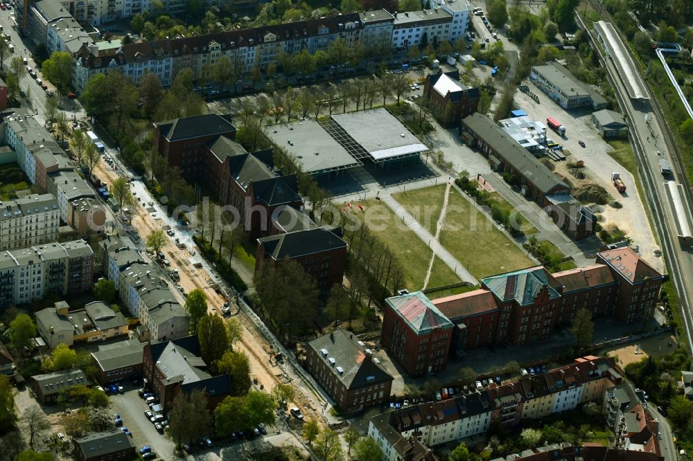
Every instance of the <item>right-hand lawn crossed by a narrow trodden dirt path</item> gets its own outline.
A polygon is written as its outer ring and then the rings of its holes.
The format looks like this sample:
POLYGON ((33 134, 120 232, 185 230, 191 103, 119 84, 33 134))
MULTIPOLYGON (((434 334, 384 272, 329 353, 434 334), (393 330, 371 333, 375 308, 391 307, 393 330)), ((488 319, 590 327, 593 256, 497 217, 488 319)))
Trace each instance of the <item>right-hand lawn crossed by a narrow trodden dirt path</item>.
MULTIPOLYGON (((443 204, 445 187, 441 185, 402 192, 394 195, 394 198, 433 233, 432 229, 435 228, 443 204)), ((475 278, 514 271, 533 264, 525 251, 495 228, 482 213, 472 209, 471 204, 455 189, 450 190, 441 243, 475 278)))

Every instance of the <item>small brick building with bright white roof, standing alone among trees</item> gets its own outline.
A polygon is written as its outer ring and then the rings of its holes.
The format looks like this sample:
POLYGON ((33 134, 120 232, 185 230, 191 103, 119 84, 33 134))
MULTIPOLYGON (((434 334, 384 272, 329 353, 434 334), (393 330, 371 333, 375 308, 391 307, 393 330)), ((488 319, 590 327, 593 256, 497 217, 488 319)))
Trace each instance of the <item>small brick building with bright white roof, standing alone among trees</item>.
POLYGON ((430 101, 435 118, 448 127, 474 114, 479 106, 479 89, 459 82, 459 72, 431 73, 423 82, 423 97, 430 101))

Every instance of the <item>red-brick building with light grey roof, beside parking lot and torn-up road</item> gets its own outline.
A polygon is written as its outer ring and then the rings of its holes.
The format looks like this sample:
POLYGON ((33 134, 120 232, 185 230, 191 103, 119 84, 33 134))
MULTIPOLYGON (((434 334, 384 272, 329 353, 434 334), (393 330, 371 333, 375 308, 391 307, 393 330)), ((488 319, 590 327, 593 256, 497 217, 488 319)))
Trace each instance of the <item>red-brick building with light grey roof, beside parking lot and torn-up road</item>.
POLYGON ((209 410, 231 392, 228 374, 212 376, 207 363, 200 358, 197 336, 185 336, 171 341, 148 343, 143 350, 143 377, 148 388, 159 397, 164 410, 181 392, 202 389, 207 395, 209 410))

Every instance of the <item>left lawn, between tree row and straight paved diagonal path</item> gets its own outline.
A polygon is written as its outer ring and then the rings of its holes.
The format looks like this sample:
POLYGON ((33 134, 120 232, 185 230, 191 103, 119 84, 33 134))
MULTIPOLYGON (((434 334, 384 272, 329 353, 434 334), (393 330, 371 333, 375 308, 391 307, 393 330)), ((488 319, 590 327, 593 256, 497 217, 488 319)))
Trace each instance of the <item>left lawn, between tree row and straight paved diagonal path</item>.
MULTIPOLYGON (((380 201, 369 200, 362 203, 365 204, 367 211, 378 213, 379 215, 389 215, 392 219, 398 219, 394 216, 392 210, 380 203, 380 201)), ((360 217, 362 215, 354 213, 354 216, 360 217)), ((401 219, 398 223, 394 223, 389 219, 373 219, 369 220, 368 226, 376 237, 385 242, 394 251, 401 262, 404 271, 405 287, 410 291, 422 289, 423 280, 426 278, 426 271, 428 271, 428 264, 433 255, 433 251, 428 248, 428 245, 413 230, 406 228, 402 224, 401 219)), ((460 279, 453 270, 436 258, 433 262, 433 271, 428 286, 441 287, 458 282, 460 282, 460 279)))

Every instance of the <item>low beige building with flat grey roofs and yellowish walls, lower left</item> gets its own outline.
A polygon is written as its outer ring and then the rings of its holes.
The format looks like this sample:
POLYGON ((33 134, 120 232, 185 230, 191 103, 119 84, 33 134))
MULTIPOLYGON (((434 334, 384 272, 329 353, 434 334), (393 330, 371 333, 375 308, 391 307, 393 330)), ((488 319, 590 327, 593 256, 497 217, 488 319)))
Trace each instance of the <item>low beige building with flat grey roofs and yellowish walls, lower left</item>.
POLYGON ((84 309, 69 310, 65 301, 36 313, 36 329, 51 349, 60 343, 94 343, 128 335, 128 322, 101 301, 89 302, 84 309))

